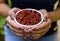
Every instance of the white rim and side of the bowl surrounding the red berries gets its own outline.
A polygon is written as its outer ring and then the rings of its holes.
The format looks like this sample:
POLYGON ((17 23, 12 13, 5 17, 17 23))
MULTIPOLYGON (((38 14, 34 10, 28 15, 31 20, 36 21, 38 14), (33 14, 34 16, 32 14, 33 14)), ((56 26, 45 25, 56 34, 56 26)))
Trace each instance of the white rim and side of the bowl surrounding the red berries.
POLYGON ((24 27, 25 29, 31 29, 32 27, 37 27, 37 26, 39 26, 39 25, 43 22, 44 17, 43 17, 42 12, 40 12, 40 11, 38 11, 38 10, 36 10, 36 9, 22 9, 22 10, 18 11, 18 12, 15 14, 15 16, 16 16, 19 12, 21 12, 21 11, 23 11, 23 10, 32 10, 32 11, 38 12, 39 14, 41 14, 41 21, 40 21, 39 23, 35 24, 35 25, 23 25, 23 24, 20 24, 19 22, 17 22, 16 18, 14 18, 14 21, 15 21, 16 24, 18 24, 20 27, 24 27))

